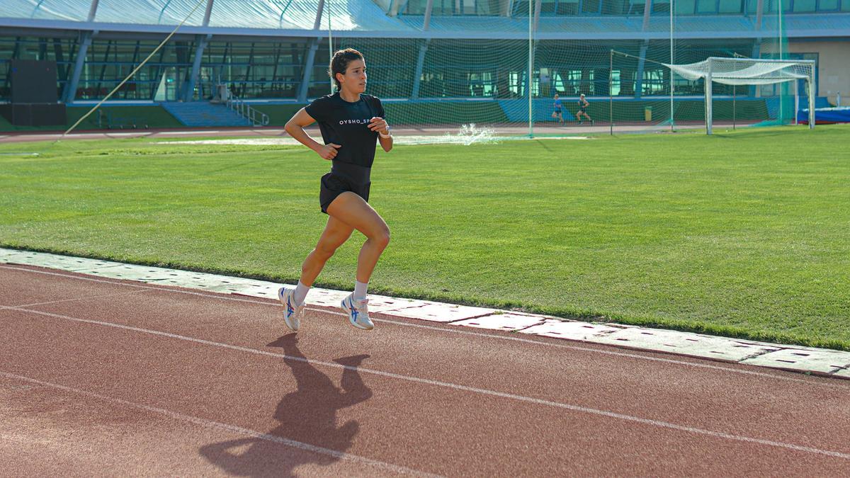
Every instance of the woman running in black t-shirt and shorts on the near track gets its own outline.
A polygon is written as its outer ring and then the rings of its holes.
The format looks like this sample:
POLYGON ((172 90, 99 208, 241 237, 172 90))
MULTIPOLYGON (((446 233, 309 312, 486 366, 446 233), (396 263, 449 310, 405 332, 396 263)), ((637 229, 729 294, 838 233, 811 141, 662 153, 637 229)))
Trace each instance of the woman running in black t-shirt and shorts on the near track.
POLYGON ((340 306, 348 314, 348 322, 357 328, 371 330, 366 287, 377 259, 389 243, 389 228, 371 208, 369 200, 370 171, 375 159, 376 139, 383 151, 393 149, 393 136, 384 119, 381 100, 364 94, 366 65, 363 55, 353 48, 333 55, 328 74, 337 84, 337 93, 323 96, 303 107, 289 122, 286 133, 316 154, 332 162, 331 172, 321 178, 319 203, 329 218, 319 242, 301 266, 297 287, 280 287, 277 293, 284 305, 286 327, 298 330, 304 310, 304 299, 327 259, 360 230, 366 241, 357 258, 354 292, 340 306), (324 144, 317 143, 304 127, 319 123, 324 144))

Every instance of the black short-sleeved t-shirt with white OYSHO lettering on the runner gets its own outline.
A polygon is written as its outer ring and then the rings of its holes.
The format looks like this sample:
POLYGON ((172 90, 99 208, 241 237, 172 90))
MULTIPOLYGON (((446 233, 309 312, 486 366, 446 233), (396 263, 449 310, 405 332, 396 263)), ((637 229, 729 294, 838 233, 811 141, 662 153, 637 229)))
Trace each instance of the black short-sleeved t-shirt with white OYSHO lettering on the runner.
POLYGON ((325 144, 342 146, 333 159, 335 162, 371 168, 375 161, 377 132, 369 129, 369 120, 384 117, 381 100, 371 94, 360 94, 360 100, 351 103, 337 92, 313 100, 304 110, 319 123, 325 144))

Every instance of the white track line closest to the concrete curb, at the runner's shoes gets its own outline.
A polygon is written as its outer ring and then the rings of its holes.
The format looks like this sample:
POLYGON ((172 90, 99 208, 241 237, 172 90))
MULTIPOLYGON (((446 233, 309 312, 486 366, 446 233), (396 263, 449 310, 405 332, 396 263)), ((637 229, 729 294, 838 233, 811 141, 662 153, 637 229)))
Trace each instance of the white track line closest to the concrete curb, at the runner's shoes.
MULTIPOLYGON (((70 279, 79 279, 81 281, 101 282, 101 283, 105 283, 105 284, 120 284, 120 285, 127 286, 127 287, 138 287, 138 288, 143 288, 143 289, 147 289, 147 290, 155 290, 155 291, 162 291, 162 292, 168 292, 168 293, 183 293, 183 294, 186 294, 186 295, 197 295, 197 296, 205 297, 205 298, 208 298, 208 299, 229 300, 229 301, 233 301, 233 302, 245 302, 246 304, 261 304, 261 305, 270 305, 270 306, 273 306, 273 307, 280 307, 280 304, 278 302, 276 302, 276 301, 272 302, 272 300, 274 300, 274 299, 269 299, 268 301, 260 300, 260 299, 241 299, 240 297, 233 297, 232 295, 228 295, 228 294, 224 294, 224 293, 202 293, 202 292, 179 290, 179 289, 176 289, 176 288, 171 288, 172 286, 153 287, 153 286, 150 286, 150 285, 129 284, 127 282, 118 282, 118 281, 120 281, 119 279, 111 281, 111 280, 106 280, 106 279, 97 278, 97 277, 72 276, 70 274, 60 274, 60 273, 57 273, 57 272, 51 272, 51 271, 47 271, 47 270, 33 270, 33 269, 27 269, 26 267, 15 267, 15 266, 10 266, 10 265, 0 265, 0 269, 22 270, 24 272, 34 272, 34 273, 43 274, 43 275, 46 275, 46 276, 59 276, 59 277, 65 277, 65 278, 70 278, 70 279)), ((123 280, 128 281, 130 279, 123 279, 123 280)), ((320 308, 317 308, 317 307, 308 307, 307 310, 315 310, 315 311, 324 312, 324 313, 327 313, 327 314, 345 316, 345 314, 343 314, 342 312, 336 312, 335 310, 320 309, 320 308)), ((378 318, 375 318, 375 319, 372 319, 372 320, 376 321, 376 322, 391 323, 391 324, 399 325, 399 326, 402 326, 402 327, 419 327, 419 328, 425 328, 425 329, 428 329, 428 330, 433 330, 433 331, 443 332, 443 333, 459 333, 459 334, 462 334, 462 335, 472 335, 472 336, 475 336, 475 337, 485 337, 485 338, 489 338, 489 339, 512 340, 512 341, 516 341, 516 342, 522 342, 522 343, 525 343, 525 344, 536 344, 536 345, 541 345, 541 346, 545 346, 545 347, 553 347, 553 348, 557 348, 557 349, 578 350, 578 351, 582 351, 582 352, 590 352, 590 353, 601 354, 601 355, 606 355, 606 356, 628 357, 628 358, 645 360, 645 361, 659 361, 659 362, 662 362, 662 363, 670 363, 670 364, 674 364, 674 365, 683 365, 683 366, 686 366, 686 367, 706 368, 706 369, 710 369, 710 370, 718 370, 718 371, 723 371, 723 372, 728 372, 728 373, 740 373, 740 374, 743 374, 743 375, 752 375, 752 376, 764 377, 764 378, 774 378, 774 379, 778 379, 778 380, 785 380, 785 381, 788 381, 788 382, 796 382, 796 383, 800 383, 800 384, 819 385, 819 386, 822 386, 822 387, 840 388, 842 390, 850 390, 850 387, 848 387, 845 384, 830 382, 830 378, 821 379, 820 377, 813 377, 813 378, 786 377, 785 375, 781 375, 781 374, 778 374, 778 373, 764 373, 764 372, 757 372, 755 370, 743 370, 743 369, 732 368, 732 367, 723 367, 723 366, 720 366, 720 365, 712 365, 712 364, 709 364, 709 363, 699 363, 699 362, 696 362, 696 361, 681 361, 681 360, 676 360, 676 359, 667 359, 667 358, 660 358, 660 357, 653 357, 653 356, 642 356, 642 355, 638 355, 636 353, 621 352, 621 351, 617 351, 617 350, 594 349, 594 348, 591 348, 591 347, 583 347, 581 345, 558 344, 558 343, 550 342, 548 340, 534 340, 534 339, 524 339, 524 338, 520 338, 520 337, 507 337, 507 336, 503 336, 503 335, 491 335, 489 333, 467 331, 467 330, 463 330, 459 327, 451 327, 451 328, 449 328, 449 327, 433 327, 433 326, 429 326, 429 325, 425 325, 425 324, 418 324, 418 323, 413 323, 413 322, 400 322, 400 321, 393 321, 393 320, 389 320, 389 319, 378 319, 378 318)), ((655 350, 649 350, 647 353, 663 353, 663 352, 658 352, 658 351, 655 351, 655 350)), ((695 358, 694 360, 700 360, 700 359, 695 358)), ((781 373, 786 373, 786 372, 781 372, 781 373)))

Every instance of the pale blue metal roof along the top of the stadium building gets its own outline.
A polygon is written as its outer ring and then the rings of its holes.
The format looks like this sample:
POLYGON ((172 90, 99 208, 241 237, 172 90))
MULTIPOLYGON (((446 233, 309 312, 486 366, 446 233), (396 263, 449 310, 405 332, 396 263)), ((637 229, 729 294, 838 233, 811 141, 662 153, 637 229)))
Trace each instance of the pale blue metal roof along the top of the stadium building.
MULTIPOLYGON (((527 16, 393 15, 381 6, 383 3, 386 2, 3 0, 0 3, 0 26, 161 33, 171 31, 189 15, 181 28, 184 34, 316 37, 328 30, 330 21, 331 30, 343 37, 528 37, 527 16), (195 11, 190 15, 193 9, 195 11)), ((646 3, 651 6, 651 0, 646 3)), ((539 16, 534 20, 538 39, 649 40, 669 37, 669 22, 665 14, 539 16)), ((675 27, 679 38, 754 38, 773 35, 773 30, 766 14, 679 16, 675 27), (759 20, 762 20, 761 23, 759 20)), ((784 33, 788 37, 850 37, 850 13, 787 14, 784 33)))

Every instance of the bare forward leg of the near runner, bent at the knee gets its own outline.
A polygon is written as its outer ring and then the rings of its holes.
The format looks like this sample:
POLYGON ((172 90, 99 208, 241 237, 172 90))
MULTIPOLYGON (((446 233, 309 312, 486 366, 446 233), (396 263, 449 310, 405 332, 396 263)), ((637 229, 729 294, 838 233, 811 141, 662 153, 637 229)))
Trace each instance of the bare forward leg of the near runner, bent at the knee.
POLYGON ((366 236, 366 242, 357 257, 357 281, 369 282, 377 259, 389 244, 387 223, 362 197, 350 191, 337 196, 328 206, 327 213, 366 236))

